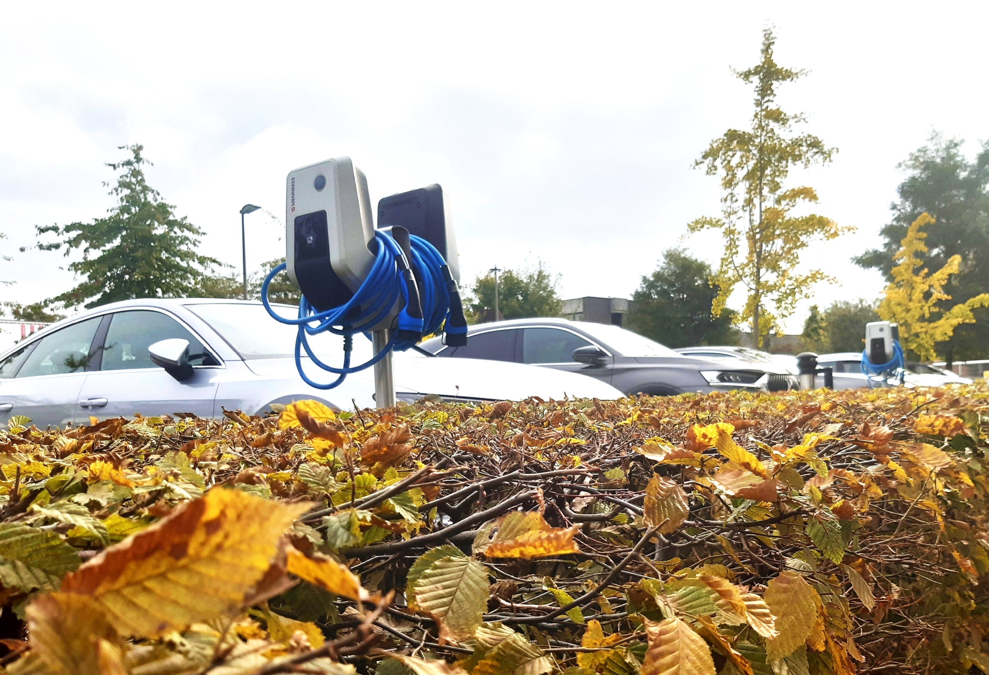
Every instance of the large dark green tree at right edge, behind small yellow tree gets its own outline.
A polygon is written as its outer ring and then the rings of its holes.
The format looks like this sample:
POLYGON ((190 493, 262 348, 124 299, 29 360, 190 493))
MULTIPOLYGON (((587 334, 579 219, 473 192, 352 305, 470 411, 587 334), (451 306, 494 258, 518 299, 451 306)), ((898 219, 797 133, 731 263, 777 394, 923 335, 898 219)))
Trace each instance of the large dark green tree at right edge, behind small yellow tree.
MULTIPOLYGON (((935 303, 936 316, 949 305, 989 290, 989 141, 972 162, 965 158, 962 144, 935 132, 927 145, 899 164, 908 175, 897 189, 899 200, 890 206, 891 221, 880 230, 885 241, 881 248, 854 259, 862 267, 880 270, 892 282, 894 257, 911 223, 930 213, 935 221, 925 228, 924 265, 942 270, 952 256, 959 256, 958 272, 944 284, 944 294, 951 300, 935 303)), ((938 345, 948 363, 989 358, 989 308, 972 313, 975 323, 959 325, 938 345)))

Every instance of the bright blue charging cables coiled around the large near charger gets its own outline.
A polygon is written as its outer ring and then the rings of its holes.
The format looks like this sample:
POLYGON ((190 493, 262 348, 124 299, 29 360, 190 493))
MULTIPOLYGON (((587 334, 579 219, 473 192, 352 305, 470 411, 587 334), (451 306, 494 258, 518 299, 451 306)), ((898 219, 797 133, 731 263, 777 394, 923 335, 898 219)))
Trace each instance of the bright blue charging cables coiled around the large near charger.
MULTIPOLYGON (((345 303, 331 307, 324 311, 316 311, 310 304, 306 296, 303 295, 299 301, 298 318, 286 318, 275 313, 268 302, 268 287, 276 275, 284 272, 288 266, 285 263, 273 269, 265 278, 261 285, 261 302, 264 308, 276 321, 289 325, 298 326, 296 335, 295 360, 296 369, 302 379, 317 389, 332 389, 339 386, 341 382, 351 373, 371 368, 389 353, 391 350, 405 351, 412 347, 417 339, 399 340, 393 337, 381 352, 376 354, 369 361, 359 366, 350 365, 350 353, 353 345, 353 336, 357 333, 364 333, 369 337, 368 331, 385 319, 392 311, 396 301, 401 296, 405 304, 399 313, 397 328, 407 331, 405 334, 414 334, 421 337, 423 334, 439 332, 444 323, 449 324, 451 315, 450 293, 444 277, 446 261, 439 254, 439 251, 425 239, 409 235, 409 246, 411 248, 411 260, 405 265, 405 254, 398 242, 390 235, 382 231, 375 232, 375 240, 378 242, 378 252, 375 262, 371 266, 367 278, 361 284, 349 300, 345 303), (420 301, 422 305, 423 318, 410 316, 407 309, 408 287, 403 274, 404 270, 411 267, 414 278, 419 286, 420 301), (354 314, 356 312, 356 314, 354 314), (315 325, 313 325, 315 323, 315 325), (316 358, 310 348, 309 335, 318 335, 329 332, 334 335, 342 335, 343 346, 343 366, 336 368, 324 364, 316 358), (303 371, 302 350, 320 369, 337 375, 337 379, 329 383, 319 383, 311 380, 303 371)), ((446 269, 446 275, 449 270, 446 269)), ((462 314, 462 312, 461 312, 462 314)), ((457 323, 463 322, 461 320, 457 323)), ((459 328, 459 327, 458 327, 459 328)), ((447 332, 455 332, 448 325, 447 332)), ((460 331, 456 331, 460 332, 460 331)), ((467 332, 466 325, 462 332, 467 332)))

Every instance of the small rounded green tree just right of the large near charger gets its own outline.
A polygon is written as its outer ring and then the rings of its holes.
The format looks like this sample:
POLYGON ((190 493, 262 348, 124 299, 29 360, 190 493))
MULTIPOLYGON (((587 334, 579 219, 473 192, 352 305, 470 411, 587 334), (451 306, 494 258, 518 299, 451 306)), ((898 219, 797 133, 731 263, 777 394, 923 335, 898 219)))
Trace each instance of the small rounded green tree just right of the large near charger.
MULTIPOLYGON (((554 276, 540 262, 535 268, 501 270, 497 277, 498 311, 506 319, 559 316, 563 301, 557 291, 560 275, 554 276)), ((494 321, 494 274, 474 280, 468 307, 472 322, 494 321)))

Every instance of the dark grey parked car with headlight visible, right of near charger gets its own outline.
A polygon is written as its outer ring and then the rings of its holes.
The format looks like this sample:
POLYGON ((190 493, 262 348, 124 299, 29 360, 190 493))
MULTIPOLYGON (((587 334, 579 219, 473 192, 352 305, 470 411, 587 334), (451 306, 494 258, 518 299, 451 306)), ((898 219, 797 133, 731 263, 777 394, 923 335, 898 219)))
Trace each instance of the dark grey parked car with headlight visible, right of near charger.
POLYGON ((770 375, 748 361, 684 356, 624 328, 587 321, 495 321, 470 326, 468 335, 466 347, 447 347, 438 337, 421 346, 438 357, 493 359, 580 373, 626 394, 766 389, 770 375))

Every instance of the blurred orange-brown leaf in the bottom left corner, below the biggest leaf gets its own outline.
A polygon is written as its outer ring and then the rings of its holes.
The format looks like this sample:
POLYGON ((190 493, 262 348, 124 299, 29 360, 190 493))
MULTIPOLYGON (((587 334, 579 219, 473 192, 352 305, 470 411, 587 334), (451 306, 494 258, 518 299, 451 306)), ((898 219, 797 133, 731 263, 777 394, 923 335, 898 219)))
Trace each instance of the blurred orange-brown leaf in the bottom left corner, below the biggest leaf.
POLYGON ((101 675, 105 672, 101 661, 112 664, 114 649, 119 655, 122 640, 91 598, 48 593, 28 605, 25 617, 31 651, 48 673, 101 675))

